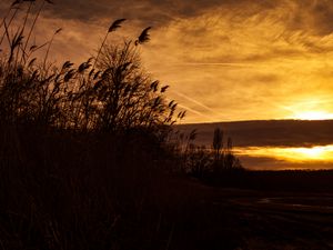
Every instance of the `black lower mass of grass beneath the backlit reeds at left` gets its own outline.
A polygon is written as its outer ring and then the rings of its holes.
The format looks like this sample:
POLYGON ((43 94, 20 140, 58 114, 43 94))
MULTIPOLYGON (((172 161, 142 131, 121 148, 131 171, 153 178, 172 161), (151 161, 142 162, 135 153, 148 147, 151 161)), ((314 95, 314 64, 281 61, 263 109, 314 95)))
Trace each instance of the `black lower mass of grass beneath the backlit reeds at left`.
POLYGON ((200 236, 219 214, 198 218, 201 188, 170 173, 173 159, 142 131, 1 131, 3 249, 204 249, 212 237, 238 244, 225 228, 200 236))

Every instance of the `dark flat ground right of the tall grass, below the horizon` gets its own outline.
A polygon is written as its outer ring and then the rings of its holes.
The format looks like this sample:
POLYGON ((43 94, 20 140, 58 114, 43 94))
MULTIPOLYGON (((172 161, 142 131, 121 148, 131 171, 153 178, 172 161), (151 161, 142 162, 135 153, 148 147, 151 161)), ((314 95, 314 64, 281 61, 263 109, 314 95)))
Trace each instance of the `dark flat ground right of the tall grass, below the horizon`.
POLYGON ((201 249, 333 249, 332 192, 195 189, 202 197, 183 218, 194 227, 175 227, 174 242, 204 233, 201 249))

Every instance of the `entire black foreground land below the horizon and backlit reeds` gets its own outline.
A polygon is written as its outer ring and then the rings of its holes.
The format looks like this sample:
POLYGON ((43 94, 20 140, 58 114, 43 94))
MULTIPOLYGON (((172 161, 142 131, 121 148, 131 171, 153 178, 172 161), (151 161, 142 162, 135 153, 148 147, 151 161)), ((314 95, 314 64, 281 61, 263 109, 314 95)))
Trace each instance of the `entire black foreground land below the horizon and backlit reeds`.
POLYGON ((1 134, 0 250, 333 249, 333 171, 198 180, 137 137, 1 134))

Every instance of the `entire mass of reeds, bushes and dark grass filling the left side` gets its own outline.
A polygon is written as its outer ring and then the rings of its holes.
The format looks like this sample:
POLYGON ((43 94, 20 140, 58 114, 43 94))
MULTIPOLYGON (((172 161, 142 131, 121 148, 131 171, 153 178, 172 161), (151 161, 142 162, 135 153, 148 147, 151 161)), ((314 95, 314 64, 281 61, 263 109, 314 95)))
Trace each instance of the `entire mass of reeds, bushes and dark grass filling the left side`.
POLYGON ((125 21, 115 20, 94 58, 52 64, 62 29, 31 40, 46 4, 14 1, 1 22, 0 248, 183 249, 194 214, 176 214, 196 196, 174 173, 183 156, 167 140, 185 112, 143 70, 151 27, 109 43, 125 21))

